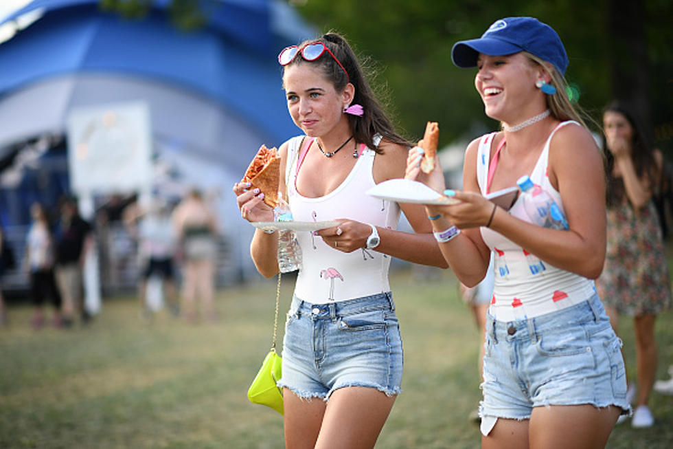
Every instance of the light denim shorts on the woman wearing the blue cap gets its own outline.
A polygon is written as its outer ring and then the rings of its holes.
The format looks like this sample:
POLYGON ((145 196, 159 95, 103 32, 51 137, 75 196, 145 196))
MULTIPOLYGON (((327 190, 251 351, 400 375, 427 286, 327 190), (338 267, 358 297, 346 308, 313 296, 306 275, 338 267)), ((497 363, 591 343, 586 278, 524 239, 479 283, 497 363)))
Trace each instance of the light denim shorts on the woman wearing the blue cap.
POLYGON ((498 417, 528 419, 533 407, 615 405, 630 413, 621 340, 597 294, 536 318, 488 314, 483 358, 482 433, 498 417))

